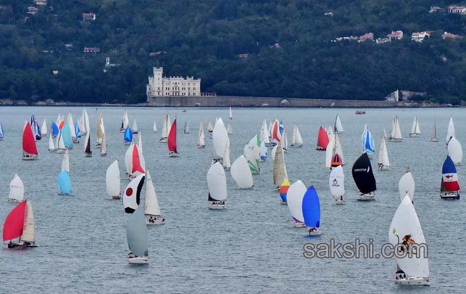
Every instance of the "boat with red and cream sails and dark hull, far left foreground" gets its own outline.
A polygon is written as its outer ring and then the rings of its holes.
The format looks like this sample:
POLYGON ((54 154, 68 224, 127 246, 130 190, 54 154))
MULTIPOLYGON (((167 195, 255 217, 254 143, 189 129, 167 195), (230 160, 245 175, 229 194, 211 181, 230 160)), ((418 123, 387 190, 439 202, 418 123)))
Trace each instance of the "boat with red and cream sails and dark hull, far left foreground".
POLYGON ((37 247, 31 201, 24 200, 6 217, 3 224, 3 242, 5 241, 9 241, 8 248, 37 247), (18 242, 13 242, 16 238, 19 238, 18 242))

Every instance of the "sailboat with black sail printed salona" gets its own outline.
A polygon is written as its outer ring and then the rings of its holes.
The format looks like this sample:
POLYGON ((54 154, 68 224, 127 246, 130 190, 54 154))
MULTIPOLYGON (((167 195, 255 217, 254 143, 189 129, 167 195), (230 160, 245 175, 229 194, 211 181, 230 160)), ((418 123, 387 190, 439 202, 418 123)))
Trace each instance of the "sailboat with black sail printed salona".
POLYGON ((354 182, 361 192, 361 196, 358 200, 375 200, 374 191, 377 190, 377 186, 367 153, 362 153, 356 160, 353 165, 352 173, 354 182))

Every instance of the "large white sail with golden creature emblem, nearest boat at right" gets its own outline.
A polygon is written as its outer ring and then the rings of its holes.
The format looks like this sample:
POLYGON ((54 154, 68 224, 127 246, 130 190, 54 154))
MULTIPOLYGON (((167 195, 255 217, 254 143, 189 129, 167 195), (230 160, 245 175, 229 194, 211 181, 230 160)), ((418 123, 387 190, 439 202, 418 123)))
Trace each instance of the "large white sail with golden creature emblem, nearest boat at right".
MULTIPOLYGON (((388 231, 388 240, 393 246, 401 243, 408 244, 408 250, 411 252, 413 252, 410 246, 411 243, 426 244, 416 210, 408 195, 403 198, 393 216, 388 231)), ((404 248, 406 250, 406 247, 404 248)), ((424 247, 420 246, 418 250, 420 253, 419 258, 415 254, 412 258, 409 258, 409 255, 404 258, 395 256, 396 263, 407 276, 428 278, 430 276, 429 264, 427 257, 424 258, 424 247)))

